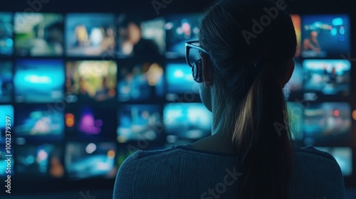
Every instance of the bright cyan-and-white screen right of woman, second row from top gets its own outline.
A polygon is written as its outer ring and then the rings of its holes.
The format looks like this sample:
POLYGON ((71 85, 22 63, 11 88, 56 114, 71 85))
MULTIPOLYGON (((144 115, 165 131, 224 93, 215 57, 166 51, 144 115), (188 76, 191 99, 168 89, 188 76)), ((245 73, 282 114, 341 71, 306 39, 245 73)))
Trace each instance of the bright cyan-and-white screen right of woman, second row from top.
POLYGON ((304 60, 304 90, 323 95, 350 95, 351 64, 347 60, 304 60))

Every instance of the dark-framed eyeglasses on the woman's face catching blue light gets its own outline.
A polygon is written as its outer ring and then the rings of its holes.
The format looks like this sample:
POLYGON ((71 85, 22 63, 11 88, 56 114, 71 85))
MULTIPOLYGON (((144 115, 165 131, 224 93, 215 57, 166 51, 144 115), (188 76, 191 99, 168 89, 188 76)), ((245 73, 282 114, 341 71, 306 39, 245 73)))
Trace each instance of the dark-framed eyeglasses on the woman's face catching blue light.
POLYGON ((206 50, 200 47, 199 41, 187 41, 187 43, 185 43, 185 59, 191 68, 194 63, 201 59, 201 52, 208 54, 206 50))

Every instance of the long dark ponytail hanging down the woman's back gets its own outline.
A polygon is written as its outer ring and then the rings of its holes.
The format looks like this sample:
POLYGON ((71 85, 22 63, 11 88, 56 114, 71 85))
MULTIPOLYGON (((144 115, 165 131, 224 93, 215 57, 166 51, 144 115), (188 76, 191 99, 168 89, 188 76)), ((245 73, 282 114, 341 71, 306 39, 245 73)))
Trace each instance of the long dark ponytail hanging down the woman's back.
POLYGON ((261 63, 241 102, 233 145, 241 155, 239 198, 288 198, 291 150, 286 102, 273 65, 261 63))

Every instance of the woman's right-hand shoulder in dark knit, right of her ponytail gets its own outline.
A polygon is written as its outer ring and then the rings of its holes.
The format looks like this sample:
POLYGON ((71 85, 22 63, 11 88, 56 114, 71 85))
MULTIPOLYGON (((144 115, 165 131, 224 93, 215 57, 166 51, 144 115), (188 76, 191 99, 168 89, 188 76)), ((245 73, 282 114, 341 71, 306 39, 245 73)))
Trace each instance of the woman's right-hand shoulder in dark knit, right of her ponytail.
POLYGON ((290 180, 293 198, 345 198, 339 164, 313 146, 295 147, 290 180))

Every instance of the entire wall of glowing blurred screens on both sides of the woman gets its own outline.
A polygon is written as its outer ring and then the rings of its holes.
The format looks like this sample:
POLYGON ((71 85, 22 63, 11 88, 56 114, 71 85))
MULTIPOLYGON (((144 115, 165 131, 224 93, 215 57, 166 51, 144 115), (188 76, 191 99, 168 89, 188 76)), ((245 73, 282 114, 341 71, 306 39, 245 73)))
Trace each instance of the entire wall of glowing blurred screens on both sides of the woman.
MULTIPOLYGON (((12 176, 115 178, 136 149, 211 133, 211 112, 185 63, 202 14, 0 13, 0 116, 11 118, 12 176)), ((284 90, 293 139, 352 175, 347 15, 293 15, 298 52, 284 90)), ((6 176, 5 119, 0 176, 6 176)), ((31 178, 33 179, 33 178, 31 178)))

